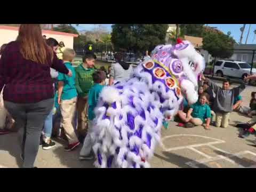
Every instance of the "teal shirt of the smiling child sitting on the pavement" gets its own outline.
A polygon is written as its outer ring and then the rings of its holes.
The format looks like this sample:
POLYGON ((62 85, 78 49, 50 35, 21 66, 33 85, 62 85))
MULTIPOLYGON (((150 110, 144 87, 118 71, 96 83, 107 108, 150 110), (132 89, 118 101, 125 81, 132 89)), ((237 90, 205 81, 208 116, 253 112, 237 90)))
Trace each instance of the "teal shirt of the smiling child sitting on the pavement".
POLYGON ((199 118, 203 122, 205 122, 206 118, 211 118, 211 108, 207 104, 202 105, 199 101, 197 101, 195 104, 191 105, 190 108, 193 109, 191 115, 194 118, 199 118))

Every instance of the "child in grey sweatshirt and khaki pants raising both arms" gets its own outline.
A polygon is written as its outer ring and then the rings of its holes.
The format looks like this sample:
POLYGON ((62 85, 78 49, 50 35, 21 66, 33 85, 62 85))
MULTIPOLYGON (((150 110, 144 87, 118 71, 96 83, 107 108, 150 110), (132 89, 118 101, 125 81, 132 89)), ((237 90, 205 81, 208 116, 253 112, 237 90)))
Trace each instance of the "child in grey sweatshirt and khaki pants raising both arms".
POLYGON ((216 113, 215 126, 226 128, 229 124, 230 112, 233 111, 233 103, 244 89, 244 83, 238 87, 230 89, 230 82, 228 80, 223 82, 222 87, 213 83, 210 79, 202 76, 202 79, 208 83, 216 97, 213 103, 213 111, 216 113))

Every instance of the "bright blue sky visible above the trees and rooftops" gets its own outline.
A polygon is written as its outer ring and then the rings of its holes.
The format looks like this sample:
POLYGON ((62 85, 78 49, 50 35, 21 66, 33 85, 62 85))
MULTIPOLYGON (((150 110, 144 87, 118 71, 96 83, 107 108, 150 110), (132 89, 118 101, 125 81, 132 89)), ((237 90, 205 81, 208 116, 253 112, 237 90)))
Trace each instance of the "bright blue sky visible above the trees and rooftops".
MULTIPOLYGON (((108 31, 111 31, 111 24, 102 24, 102 25, 105 26, 108 31)), ((217 27, 219 30, 223 31, 223 33, 225 33, 225 34, 227 34, 228 31, 230 31, 231 36, 236 40, 236 42, 239 42, 239 39, 241 36, 240 28, 243 27, 243 24, 207 24, 207 25, 209 25, 211 27, 217 27)), ((79 24, 77 29, 78 30, 91 30, 94 27, 95 27, 94 24, 79 24)), ((254 36, 253 31, 255 29, 256 29, 256 24, 252 24, 247 44, 253 44, 253 43, 256 44, 256 38, 254 39, 254 42, 253 42, 253 36, 254 36)), ((245 27, 243 43, 245 43, 248 30, 249 30, 249 24, 247 24, 245 27)))

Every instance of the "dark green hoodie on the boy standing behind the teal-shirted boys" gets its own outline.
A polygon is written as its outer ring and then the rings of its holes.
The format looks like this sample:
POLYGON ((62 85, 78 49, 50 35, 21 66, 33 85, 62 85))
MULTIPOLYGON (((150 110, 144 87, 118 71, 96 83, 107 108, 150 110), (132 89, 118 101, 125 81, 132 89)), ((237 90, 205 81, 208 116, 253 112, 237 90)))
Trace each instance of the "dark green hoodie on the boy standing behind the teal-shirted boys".
POLYGON ((79 97, 85 97, 93 86, 93 68, 84 68, 83 64, 75 69, 76 71, 76 90, 79 97))

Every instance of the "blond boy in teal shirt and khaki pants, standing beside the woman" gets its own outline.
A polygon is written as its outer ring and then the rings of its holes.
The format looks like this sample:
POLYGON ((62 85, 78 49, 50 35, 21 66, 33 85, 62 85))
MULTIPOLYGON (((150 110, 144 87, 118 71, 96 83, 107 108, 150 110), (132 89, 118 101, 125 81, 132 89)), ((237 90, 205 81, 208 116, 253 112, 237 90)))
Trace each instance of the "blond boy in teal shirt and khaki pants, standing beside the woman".
POLYGON ((65 131, 69 143, 69 145, 65 148, 66 151, 71 151, 80 144, 75 133, 75 127, 73 126, 77 102, 77 91, 75 86, 76 73, 71 63, 74 57, 74 50, 65 49, 65 51, 63 51, 63 62, 65 66, 71 70, 73 76, 69 77, 61 73, 59 73, 58 76, 58 103, 60 105, 62 116, 61 125, 65 131))

